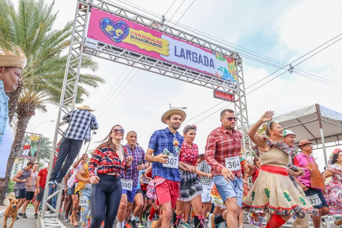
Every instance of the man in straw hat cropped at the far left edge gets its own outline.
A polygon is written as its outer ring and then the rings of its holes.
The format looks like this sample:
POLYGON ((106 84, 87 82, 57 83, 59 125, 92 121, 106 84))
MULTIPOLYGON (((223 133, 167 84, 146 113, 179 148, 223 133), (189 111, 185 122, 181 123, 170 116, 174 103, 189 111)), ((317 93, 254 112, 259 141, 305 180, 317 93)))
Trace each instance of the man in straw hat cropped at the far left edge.
POLYGON ((5 92, 15 91, 21 83, 22 70, 26 65, 24 52, 18 47, 11 50, 0 48, 0 178, 5 178, 8 157, 13 141, 13 132, 9 125, 8 101, 5 92))

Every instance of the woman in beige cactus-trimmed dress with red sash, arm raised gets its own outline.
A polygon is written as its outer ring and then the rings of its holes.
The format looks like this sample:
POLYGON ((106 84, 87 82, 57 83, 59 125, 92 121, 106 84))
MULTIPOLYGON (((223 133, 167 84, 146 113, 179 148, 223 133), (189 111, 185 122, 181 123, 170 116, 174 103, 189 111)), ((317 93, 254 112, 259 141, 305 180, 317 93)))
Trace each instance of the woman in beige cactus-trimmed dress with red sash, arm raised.
POLYGON ((271 214, 266 228, 281 227, 292 215, 303 218, 307 213, 318 213, 289 178, 287 166, 292 163, 294 149, 281 141, 283 129, 278 123, 271 122, 273 115, 273 111, 265 112, 248 132, 256 144, 253 149, 260 155, 261 166, 259 177, 242 204, 247 212, 271 214), (268 139, 257 133, 266 122, 269 123, 265 130, 268 139))

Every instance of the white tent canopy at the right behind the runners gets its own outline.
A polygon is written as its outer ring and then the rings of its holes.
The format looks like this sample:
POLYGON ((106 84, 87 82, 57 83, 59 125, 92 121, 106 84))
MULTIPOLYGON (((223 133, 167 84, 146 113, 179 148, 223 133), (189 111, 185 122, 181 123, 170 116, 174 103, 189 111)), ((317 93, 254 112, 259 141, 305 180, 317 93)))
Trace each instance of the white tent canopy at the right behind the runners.
POLYGON ((342 140, 342 114, 319 104, 276 116, 273 121, 278 122, 284 130, 289 129, 297 134, 296 144, 307 139, 316 145, 315 149, 322 145, 326 166, 325 143, 335 142, 335 145, 339 145, 342 140))

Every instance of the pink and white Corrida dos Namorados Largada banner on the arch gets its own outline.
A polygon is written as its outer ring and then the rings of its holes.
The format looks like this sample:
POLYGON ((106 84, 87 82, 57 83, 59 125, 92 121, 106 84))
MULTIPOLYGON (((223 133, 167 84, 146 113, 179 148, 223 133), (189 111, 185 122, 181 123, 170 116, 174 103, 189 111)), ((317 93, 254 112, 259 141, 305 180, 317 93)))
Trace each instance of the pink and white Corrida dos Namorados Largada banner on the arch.
POLYGON ((237 83, 234 59, 102 10, 92 9, 87 36, 237 83))

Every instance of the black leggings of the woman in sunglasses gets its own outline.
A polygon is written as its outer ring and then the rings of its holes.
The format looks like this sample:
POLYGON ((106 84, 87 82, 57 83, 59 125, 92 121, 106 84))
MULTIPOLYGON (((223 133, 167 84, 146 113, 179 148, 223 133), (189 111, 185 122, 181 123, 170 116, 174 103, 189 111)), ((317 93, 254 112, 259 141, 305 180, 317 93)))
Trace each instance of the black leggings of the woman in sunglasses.
POLYGON ((100 181, 91 185, 91 228, 99 228, 105 221, 103 228, 113 228, 114 220, 118 214, 121 200, 120 177, 112 175, 98 175, 100 181))

